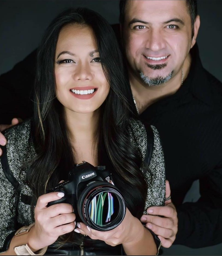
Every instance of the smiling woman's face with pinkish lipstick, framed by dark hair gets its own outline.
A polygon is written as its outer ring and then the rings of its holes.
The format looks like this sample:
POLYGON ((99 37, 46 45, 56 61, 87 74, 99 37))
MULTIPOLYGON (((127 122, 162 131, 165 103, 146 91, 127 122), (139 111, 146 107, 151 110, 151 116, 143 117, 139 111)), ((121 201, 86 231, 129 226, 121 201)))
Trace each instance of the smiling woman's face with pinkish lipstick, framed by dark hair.
POLYGON ((97 44, 90 27, 69 24, 62 28, 55 52, 57 99, 66 111, 90 113, 109 93, 97 44))

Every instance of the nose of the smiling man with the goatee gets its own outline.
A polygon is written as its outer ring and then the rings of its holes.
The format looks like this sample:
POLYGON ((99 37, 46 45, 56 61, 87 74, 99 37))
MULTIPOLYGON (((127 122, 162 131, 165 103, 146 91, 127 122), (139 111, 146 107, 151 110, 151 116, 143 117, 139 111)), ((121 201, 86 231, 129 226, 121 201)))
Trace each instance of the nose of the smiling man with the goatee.
POLYGON ((165 38, 160 30, 152 29, 150 33, 147 34, 145 47, 152 51, 159 51, 166 47, 165 38))

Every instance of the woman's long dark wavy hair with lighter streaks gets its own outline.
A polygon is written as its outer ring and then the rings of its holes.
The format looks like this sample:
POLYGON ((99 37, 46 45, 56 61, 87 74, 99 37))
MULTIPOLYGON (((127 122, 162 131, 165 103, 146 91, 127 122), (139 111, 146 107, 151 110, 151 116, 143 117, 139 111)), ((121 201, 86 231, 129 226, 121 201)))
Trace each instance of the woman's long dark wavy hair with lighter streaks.
POLYGON ((28 172, 28 183, 37 200, 46 189, 65 180, 75 164, 63 106, 55 97, 55 49, 60 30, 67 24, 87 25, 94 31, 103 71, 110 84, 109 94, 100 107, 98 162, 106 165, 104 161, 109 161, 115 185, 121 190, 128 209, 140 217, 147 184, 140 171, 141 159, 128 132, 130 87, 124 78, 122 57, 111 26, 98 13, 86 8, 62 12, 49 25, 38 49, 33 120, 37 156, 28 172))

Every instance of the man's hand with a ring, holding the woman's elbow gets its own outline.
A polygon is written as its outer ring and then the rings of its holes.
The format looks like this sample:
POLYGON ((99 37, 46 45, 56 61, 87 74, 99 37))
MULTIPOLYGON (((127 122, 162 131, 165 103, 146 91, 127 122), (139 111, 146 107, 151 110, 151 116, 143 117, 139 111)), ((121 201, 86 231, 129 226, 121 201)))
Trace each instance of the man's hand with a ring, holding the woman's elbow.
POLYGON ((168 200, 165 201, 165 206, 152 206, 148 208, 148 215, 143 215, 141 221, 146 222, 146 227, 158 235, 163 247, 169 248, 176 238, 178 219, 176 208, 170 199, 168 180, 166 180, 166 199, 168 200))

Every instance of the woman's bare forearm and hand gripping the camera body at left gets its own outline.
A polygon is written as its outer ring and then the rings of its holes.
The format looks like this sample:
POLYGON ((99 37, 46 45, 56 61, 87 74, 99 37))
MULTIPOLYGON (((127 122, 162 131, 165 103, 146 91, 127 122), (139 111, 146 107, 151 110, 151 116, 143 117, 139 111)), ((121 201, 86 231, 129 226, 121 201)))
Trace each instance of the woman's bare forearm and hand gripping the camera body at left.
POLYGON ((35 207, 35 225, 16 232, 11 239, 9 249, 4 255, 34 255, 33 252, 45 253, 47 246, 53 244, 60 235, 71 232, 75 228, 75 214, 72 205, 60 203, 47 207, 49 202, 60 199, 64 193, 51 192, 41 195, 35 207), (30 231, 29 228, 31 227, 30 231), (27 232, 28 230, 28 232, 27 232), (19 233, 19 234, 17 234, 19 233), (21 246, 22 248, 18 248, 21 246))

